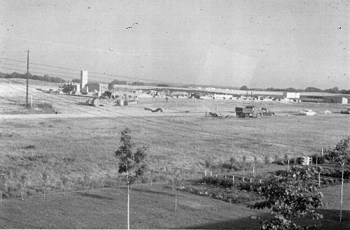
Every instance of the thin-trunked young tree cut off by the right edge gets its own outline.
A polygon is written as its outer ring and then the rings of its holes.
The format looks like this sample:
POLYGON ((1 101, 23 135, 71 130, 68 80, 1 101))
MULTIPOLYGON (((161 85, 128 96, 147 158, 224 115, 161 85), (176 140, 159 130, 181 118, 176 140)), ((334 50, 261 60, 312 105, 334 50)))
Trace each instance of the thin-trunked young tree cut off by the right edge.
POLYGON ((350 137, 339 141, 335 148, 330 152, 330 157, 334 157, 334 161, 342 170, 342 191, 340 198, 340 222, 342 222, 342 203, 343 203, 343 185, 344 185, 344 169, 349 167, 350 158, 350 137))

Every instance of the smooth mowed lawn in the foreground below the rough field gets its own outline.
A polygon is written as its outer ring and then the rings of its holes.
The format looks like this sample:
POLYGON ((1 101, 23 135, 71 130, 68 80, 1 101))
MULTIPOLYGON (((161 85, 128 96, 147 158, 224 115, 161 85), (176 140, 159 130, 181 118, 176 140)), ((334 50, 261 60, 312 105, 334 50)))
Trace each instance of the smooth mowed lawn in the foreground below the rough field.
MULTIPOLYGON (((339 223, 339 185, 321 189, 328 203, 320 220, 323 229, 349 229, 350 185, 344 185, 343 221, 339 223)), ((125 187, 31 196, 25 201, 5 200, 0 205, 0 228, 10 229, 126 229, 125 187)), ((132 190, 132 229, 257 229, 251 216, 269 217, 269 210, 251 210, 246 203, 232 204, 178 193, 164 185, 141 185, 132 190)), ((311 224, 313 220, 303 221, 311 224)))

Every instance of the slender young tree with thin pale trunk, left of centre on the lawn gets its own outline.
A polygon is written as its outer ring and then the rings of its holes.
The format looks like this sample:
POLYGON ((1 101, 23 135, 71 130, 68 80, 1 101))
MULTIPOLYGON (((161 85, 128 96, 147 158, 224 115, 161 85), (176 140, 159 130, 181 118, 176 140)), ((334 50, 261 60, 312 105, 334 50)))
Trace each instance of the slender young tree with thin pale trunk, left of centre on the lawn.
POLYGON ((130 129, 121 132, 121 145, 116 150, 115 156, 119 160, 118 173, 123 175, 125 184, 127 185, 127 229, 130 229, 130 185, 136 178, 144 175, 147 165, 147 148, 145 146, 133 150, 134 143, 130 136, 130 129))

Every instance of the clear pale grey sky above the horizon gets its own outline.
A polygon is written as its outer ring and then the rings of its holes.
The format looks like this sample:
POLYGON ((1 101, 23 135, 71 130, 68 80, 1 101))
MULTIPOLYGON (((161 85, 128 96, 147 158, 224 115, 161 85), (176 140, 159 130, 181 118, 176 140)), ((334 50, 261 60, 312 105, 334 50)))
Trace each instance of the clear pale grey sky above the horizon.
MULTIPOLYGON (((153 82, 349 89, 349 6, 350 1, 2 0, 0 57, 26 61, 30 50, 29 64, 153 82)), ((1 68, 10 63, 21 64, 0 59, 0 71, 12 72, 1 68)), ((41 72, 57 71, 46 69, 41 72)))

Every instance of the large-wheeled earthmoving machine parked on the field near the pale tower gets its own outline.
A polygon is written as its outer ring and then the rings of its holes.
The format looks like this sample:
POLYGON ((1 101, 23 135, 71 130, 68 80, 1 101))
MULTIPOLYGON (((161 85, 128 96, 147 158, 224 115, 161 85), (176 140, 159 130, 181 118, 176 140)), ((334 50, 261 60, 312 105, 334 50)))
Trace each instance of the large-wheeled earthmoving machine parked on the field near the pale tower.
POLYGON ((101 96, 95 95, 86 100, 90 106, 136 106, 139 101, 137 96, 119 96, 114 92, 106 90, 101 96))

